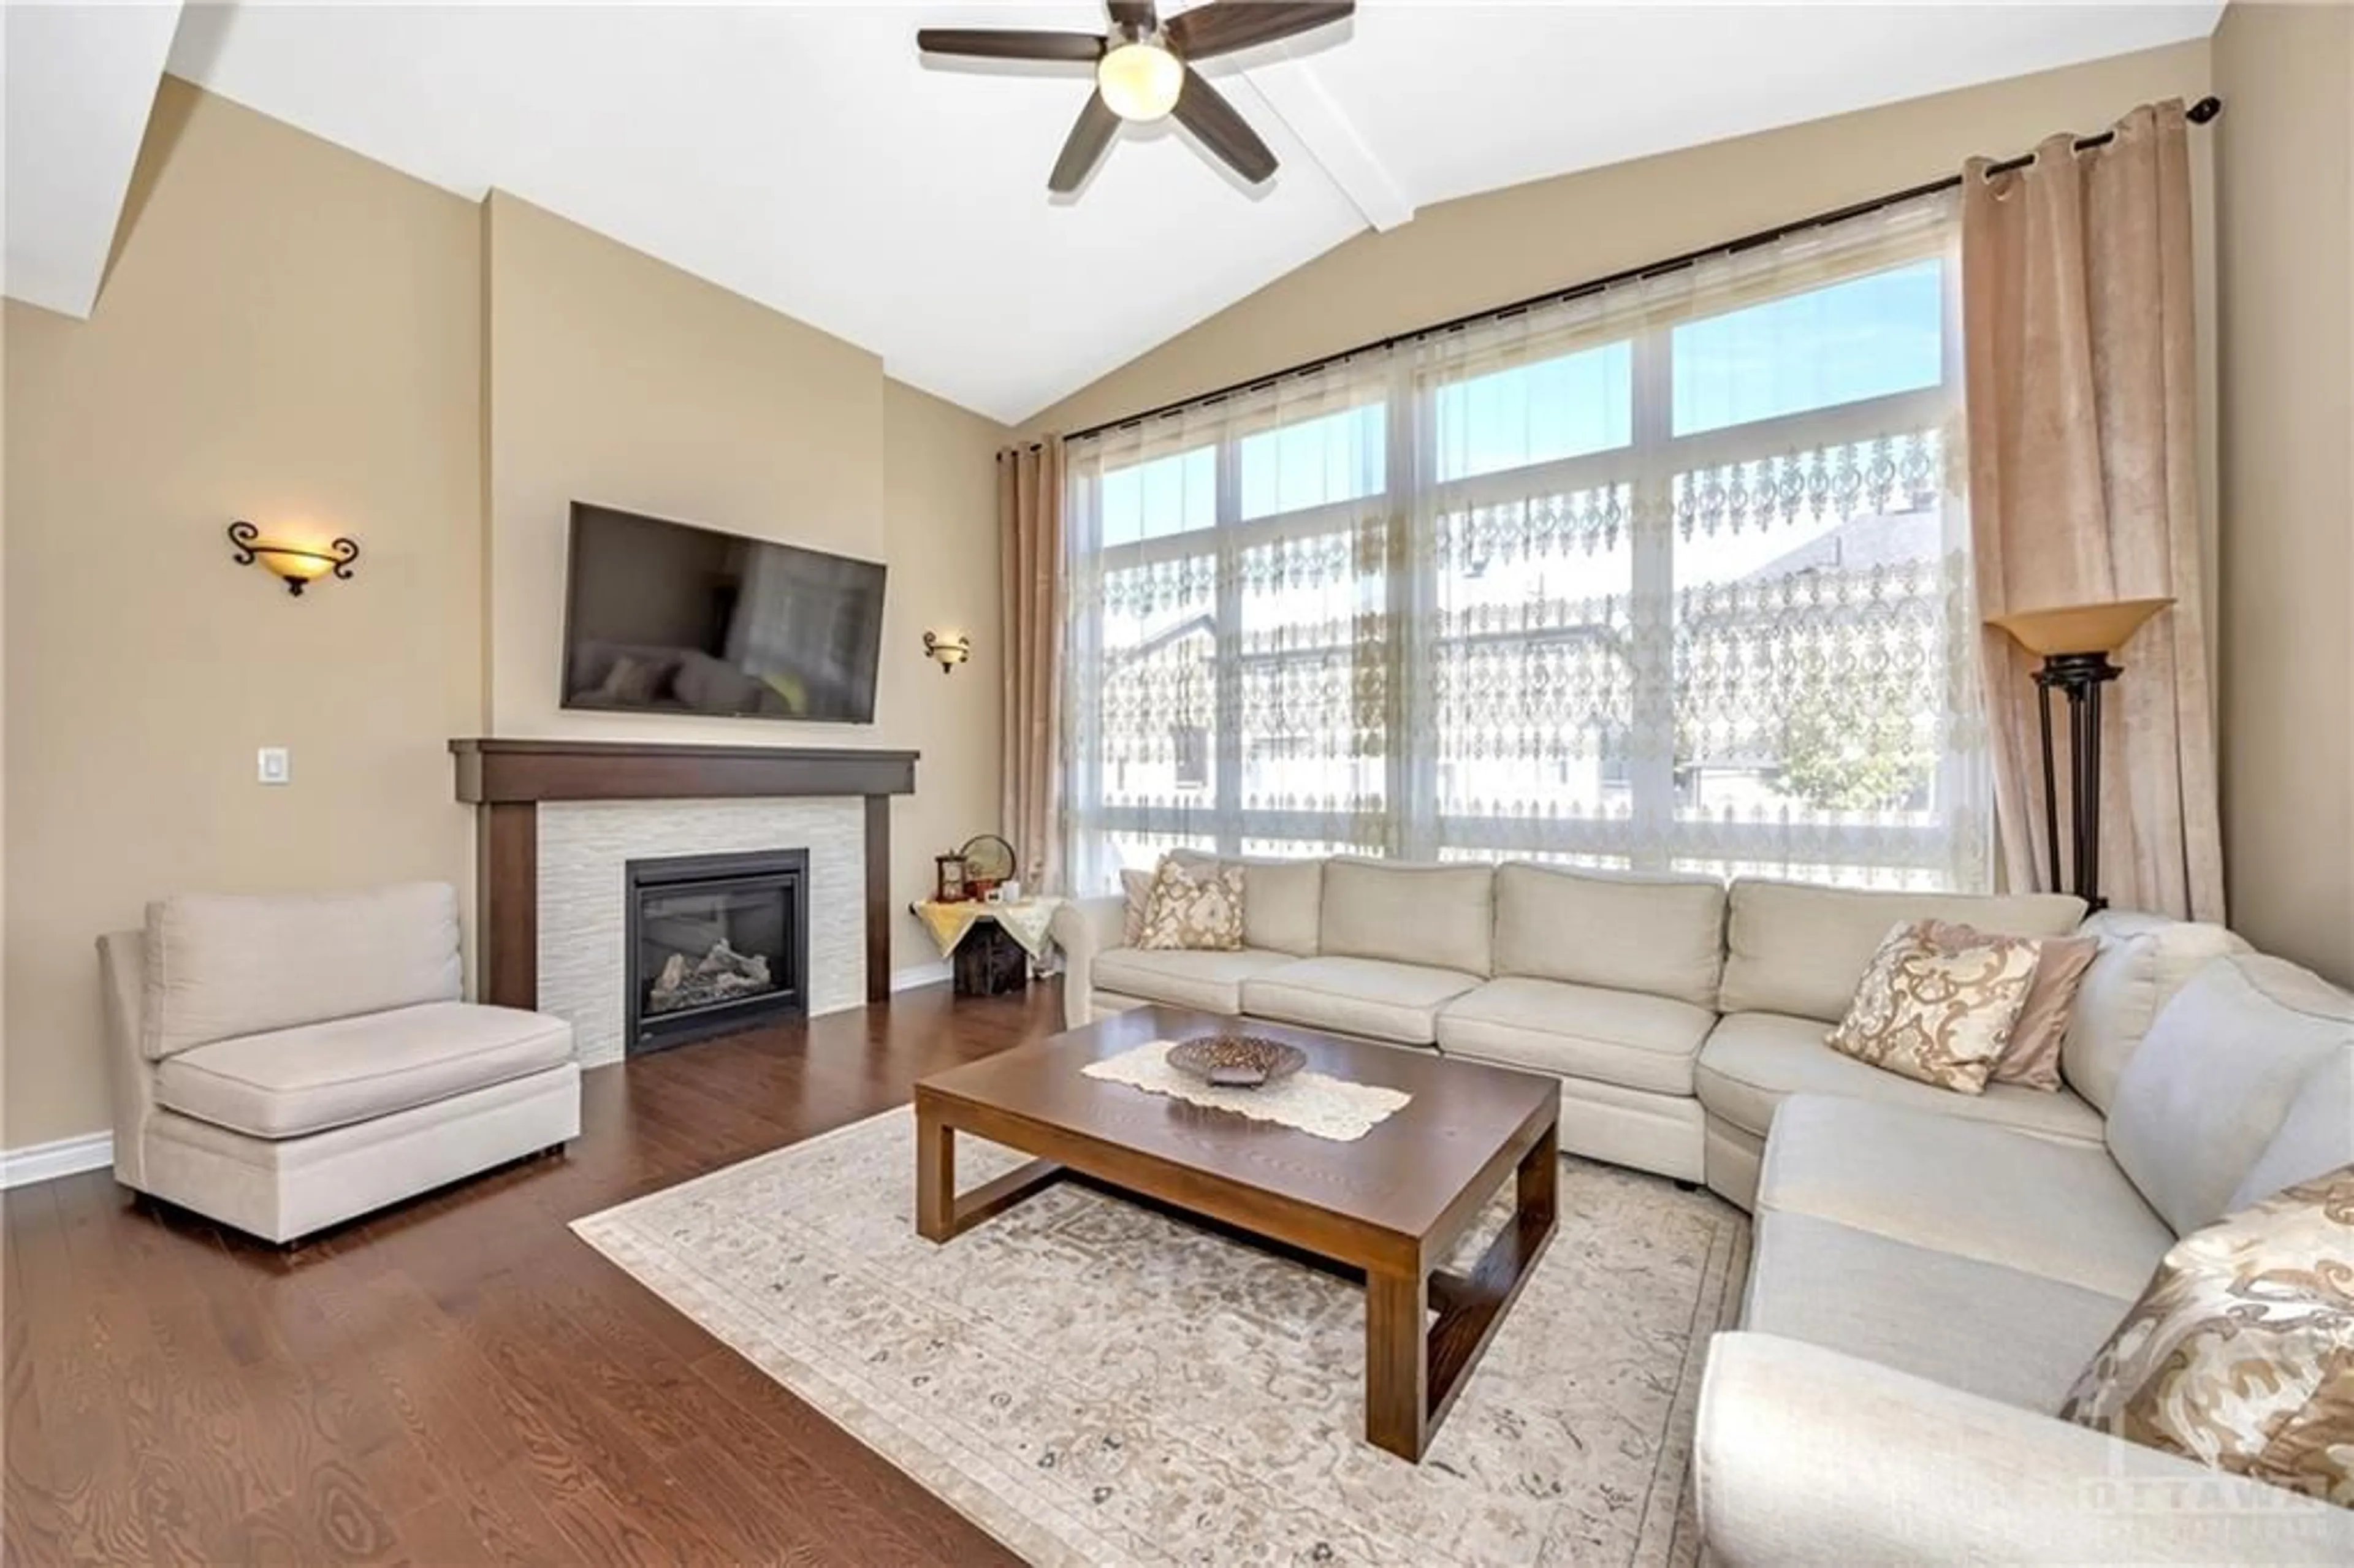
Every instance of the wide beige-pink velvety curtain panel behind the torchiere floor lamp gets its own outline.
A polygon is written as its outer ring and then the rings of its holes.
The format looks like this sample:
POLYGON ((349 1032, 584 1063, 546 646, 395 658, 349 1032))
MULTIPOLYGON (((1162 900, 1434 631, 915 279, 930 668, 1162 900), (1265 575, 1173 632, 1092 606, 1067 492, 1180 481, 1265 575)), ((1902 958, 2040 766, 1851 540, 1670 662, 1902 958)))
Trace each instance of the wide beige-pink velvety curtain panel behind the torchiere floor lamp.
MULTIPOLYGON (((2102 892, 2222 921, 2182 104, 2135 108, 2097 148, 2050 137, 2022 170, 1989 177, 1973 160, 1961 214, 1977 610, 2175 600, 2114 652, 2126 673, 2104 699, 2102 892)), ((2034 664, 1982 633, 2001 857, 2020 890, 2048 881, 2034 664)))

